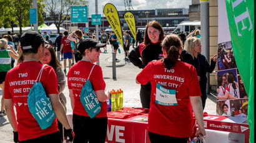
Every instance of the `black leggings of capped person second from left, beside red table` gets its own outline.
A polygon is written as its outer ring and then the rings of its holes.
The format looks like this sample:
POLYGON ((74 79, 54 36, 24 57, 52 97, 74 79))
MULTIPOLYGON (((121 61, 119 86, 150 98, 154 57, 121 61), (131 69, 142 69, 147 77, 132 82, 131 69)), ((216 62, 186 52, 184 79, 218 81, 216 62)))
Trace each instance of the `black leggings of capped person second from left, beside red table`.
POLYGON ((74 143, 104 143, 107 134, 107 117, 90 118, 73 114, 74 143))

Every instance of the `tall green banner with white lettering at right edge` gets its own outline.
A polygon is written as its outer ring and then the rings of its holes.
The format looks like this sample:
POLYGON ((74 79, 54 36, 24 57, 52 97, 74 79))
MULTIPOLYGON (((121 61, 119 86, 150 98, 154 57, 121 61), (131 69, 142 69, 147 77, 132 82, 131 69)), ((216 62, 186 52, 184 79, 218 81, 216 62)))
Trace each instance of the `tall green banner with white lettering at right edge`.
POLYGON ((249 96, 250 142, 254 142, 254 1, 226 1, 235 61, 249 96))

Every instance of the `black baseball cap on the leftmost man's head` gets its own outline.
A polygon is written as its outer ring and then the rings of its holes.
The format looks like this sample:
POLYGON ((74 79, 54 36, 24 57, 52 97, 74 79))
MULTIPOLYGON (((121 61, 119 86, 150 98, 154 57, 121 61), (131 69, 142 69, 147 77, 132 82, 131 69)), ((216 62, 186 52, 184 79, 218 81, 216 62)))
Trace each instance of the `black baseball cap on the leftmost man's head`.
POLYGON ((35 49, 41 44, 46 43, 42 35, 35 31, 24 32, 21 35, 21 48, 22 50, 35 49))

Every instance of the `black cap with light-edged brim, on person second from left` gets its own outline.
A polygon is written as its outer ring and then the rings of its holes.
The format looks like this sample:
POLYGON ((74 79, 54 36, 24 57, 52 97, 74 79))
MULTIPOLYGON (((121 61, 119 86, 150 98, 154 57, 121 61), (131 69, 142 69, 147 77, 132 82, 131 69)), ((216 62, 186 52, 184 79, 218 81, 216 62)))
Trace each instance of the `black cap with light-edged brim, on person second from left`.
POLYGON ((102 48, 105 47, 107 44, 99 44, 96 40, 86 38, 82 39, 80 44, 77 47, 77 50, 82 54, 87 48, 102 48))

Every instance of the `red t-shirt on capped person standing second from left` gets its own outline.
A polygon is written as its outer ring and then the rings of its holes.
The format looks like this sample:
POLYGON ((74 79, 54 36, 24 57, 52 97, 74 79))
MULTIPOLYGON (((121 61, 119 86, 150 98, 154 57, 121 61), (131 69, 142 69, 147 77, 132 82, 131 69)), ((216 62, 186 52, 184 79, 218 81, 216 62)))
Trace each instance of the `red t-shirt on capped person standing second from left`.
MULTIPOLYGON (((82 86, 86 83, 89 73, 94 64, 85 61, 79 61, 71 67, 69 73, 67 73, 67 85, 69 89, 73 91, 74 96, 74 109, 73 113, 80 116, 89 116, 86 113, 86 109, 82 106, 80 101, 80 93, 82 86)), ((99 65, 96 65, 92 70, 89 80, 92 83, 94 91, 105 90, 106 83, 103 80, 102 69, 99 65)), ((107 103, 101 103, 101 111, 95 116, 96 118, 107 117, 107 103)))

